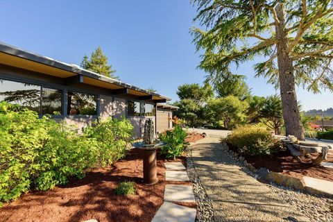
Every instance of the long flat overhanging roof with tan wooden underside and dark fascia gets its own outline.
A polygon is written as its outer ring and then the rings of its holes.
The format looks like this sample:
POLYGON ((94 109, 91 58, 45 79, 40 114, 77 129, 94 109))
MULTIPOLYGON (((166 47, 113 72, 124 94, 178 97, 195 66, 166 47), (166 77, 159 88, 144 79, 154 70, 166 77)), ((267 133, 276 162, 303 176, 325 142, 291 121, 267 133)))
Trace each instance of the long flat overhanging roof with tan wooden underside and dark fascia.
POLYGON ((78 65, 60 62, 46 56, 40 56, 37 53, 25 51, 3 42, 0 42, 0 63, 37 71, 46 75, 57 76, 71 81, 77 79, 78 83, 112 89, 119 94, 132 94, 141 97, 142 100, 151 100, 161 103, 171 100, 167 96, 150 92, 128 83, 123 83, 114 78, 96 74, 93 71, 82 69, 78 65))

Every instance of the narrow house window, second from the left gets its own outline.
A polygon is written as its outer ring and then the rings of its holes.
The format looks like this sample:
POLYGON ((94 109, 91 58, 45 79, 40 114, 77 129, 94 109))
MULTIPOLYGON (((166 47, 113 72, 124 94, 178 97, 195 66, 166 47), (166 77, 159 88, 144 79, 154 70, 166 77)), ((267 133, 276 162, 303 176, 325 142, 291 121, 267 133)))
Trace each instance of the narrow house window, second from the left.
POLYGON ((61 114, 62 91, 42 87, 42 114, 61 114))

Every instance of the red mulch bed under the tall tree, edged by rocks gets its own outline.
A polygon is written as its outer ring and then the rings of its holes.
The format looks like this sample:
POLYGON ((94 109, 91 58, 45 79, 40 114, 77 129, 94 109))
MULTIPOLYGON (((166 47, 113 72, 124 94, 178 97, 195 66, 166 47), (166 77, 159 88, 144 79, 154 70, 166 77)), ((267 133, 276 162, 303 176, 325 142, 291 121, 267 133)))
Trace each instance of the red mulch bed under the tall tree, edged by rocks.
MULTIPOLYGON (((230 146, 233 151, 237 149, 230 146)), ((252 157, 244 156, 249 164, 259 169, 260 167, 266 167, 269 171, 284 173, 297 178, 302 176, 310 176, 312 178, 318 178, 323 180, 333 181, 333 169, 327 167, 316 166, 311 164, 311 160, 307 158, 301 158, 307 164, 301 164, 289 153, 289 151, 279 153, 273 157, 252 157)), ((316 156, 314 156, 316 157, 316 156)), ((333 155, 329 154, 326 160, 327 162, 333 162, 333 155)))

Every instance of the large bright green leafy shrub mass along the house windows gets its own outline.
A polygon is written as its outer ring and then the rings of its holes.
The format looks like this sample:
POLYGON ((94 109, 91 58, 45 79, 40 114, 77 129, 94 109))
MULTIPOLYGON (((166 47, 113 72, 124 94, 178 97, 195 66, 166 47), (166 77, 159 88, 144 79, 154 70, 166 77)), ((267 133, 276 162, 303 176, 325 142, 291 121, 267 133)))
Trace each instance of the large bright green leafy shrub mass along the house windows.
POLYGON ((28 189, 52 189, 69 178, 82 178, 91 167, 123 157, 132 126, 127 119, 108 119, 76 128, 36 112, 0 102, 0 202, 28 189))

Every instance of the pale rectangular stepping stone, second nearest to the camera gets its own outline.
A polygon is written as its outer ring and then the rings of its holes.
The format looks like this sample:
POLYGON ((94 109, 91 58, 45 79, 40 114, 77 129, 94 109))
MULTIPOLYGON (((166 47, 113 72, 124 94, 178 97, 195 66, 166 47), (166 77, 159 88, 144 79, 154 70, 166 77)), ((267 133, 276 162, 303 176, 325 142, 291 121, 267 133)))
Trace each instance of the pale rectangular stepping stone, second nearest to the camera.
POLYGON ((196 202, 191 186, 167 185, 164 191, 165 201, 196 202))

